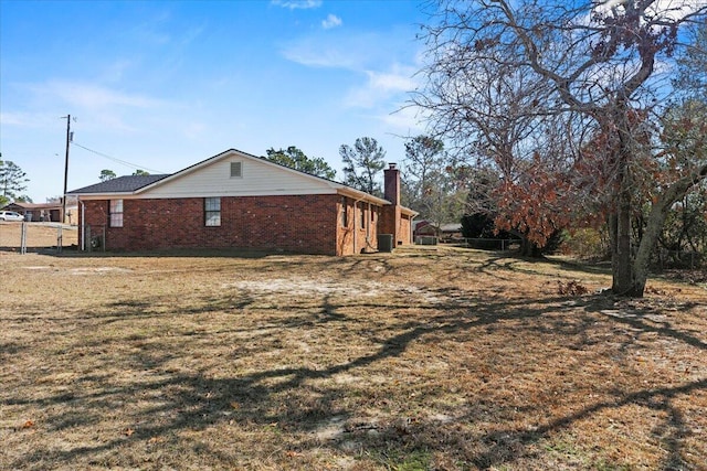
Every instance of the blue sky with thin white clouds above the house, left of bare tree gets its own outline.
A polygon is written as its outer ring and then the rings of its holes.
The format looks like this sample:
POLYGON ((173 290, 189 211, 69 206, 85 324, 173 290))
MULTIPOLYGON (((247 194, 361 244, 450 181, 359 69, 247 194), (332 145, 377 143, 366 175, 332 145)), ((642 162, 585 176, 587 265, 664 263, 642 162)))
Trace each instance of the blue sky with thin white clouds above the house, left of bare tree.
POLYGON ((36 203, 101 170, 171 173, 230 148, 339 146, 401 161, 426 15, 419 1, 0 0, 0 151, 36 203), (78 147, 82 146, 82 147, 78 147))

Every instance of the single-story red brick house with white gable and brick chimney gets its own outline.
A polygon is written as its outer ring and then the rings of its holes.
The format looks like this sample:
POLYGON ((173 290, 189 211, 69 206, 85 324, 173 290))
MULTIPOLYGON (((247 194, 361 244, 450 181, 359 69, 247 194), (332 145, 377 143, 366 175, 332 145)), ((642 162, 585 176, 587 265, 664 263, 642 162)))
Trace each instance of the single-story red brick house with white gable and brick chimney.
POLYGON ((78 197, 80 247, 108 250, 247 248, 351 255, 410 244, 415 212, 400 205, 400 173, 386 199, 230 149, 173 174, 120 176, 78 197), (93 237, 93 238, 92 238, 93 237), (384 240, 384 238, 383 238, 384 240))

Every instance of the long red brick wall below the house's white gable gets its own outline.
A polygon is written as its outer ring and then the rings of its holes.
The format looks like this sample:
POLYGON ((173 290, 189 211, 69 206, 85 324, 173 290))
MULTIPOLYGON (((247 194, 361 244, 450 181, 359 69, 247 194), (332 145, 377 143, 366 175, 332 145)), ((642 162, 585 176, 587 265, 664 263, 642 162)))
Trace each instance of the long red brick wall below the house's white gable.
POLYGON ((106 227, 108 250, 235 247, 345 255, 339 201, 338 195, 221 197, 218 227, 204 226, 202 197, 124 200, 123 227, 107 227, 108 201, 84 204, 93 234, 106 227))

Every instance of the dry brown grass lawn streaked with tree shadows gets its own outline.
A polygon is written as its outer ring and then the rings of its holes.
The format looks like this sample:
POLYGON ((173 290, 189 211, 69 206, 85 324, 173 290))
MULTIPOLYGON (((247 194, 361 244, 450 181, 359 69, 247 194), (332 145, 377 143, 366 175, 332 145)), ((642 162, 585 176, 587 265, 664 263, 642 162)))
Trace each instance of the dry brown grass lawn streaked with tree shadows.
POLYGON ((475 250, 176 255, 0 251, 0 469, 707 463, 705 286, 615 300, 591 267, 475 250))

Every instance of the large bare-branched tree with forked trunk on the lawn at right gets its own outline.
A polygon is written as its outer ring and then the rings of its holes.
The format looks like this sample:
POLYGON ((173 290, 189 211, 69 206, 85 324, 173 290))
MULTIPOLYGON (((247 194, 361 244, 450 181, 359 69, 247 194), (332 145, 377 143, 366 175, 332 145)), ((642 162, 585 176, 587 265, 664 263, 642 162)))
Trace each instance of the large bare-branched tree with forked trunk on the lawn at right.
MULTIPOLYGON (((507 141, 485 139, 493 143, 492 151, 503 151, 497 157, 502 174, 518 162, 527 164, 529 153, 536 162, 557 161, 556 152, 538 151, 542 142, 537 131, 551 129, 550 116, 580 117, 563 118, 573 122, 580 136, 568 133, 567 141, 572 143, 561 148, 578 150, 573 159, 581 160, 589 141, 582 137, 592 136, 591 152, 601 151, 601 173, 583 179, 583 189, 589 191, 588 180, 594 179, 593 190, 608 195, 613 292, 641 297, 650 254, 667 211, 707 176, 707 164, 701 161, 664 179, 647 202, 652 210, 640 245, 632 247, 631 217, 644 203, 636 200, 643 179, 637 162, 651 154, 645 122, 655 116, 669 88, 663 73, 667 67, 657 64, 673 61, 674 52, 683 46, 680 28, 704 21, 706 12, 707 6, 689 0, 680 4, 657 0, 442 1, 426 29, 429 85, 415 103, 432 111, 439 132, 456 132, 456 137, 460 122, 472 129, 469 136, 485 136, 484 121, 498 118, 489 103, 505 104, 506 129, 516 133, 507 135, 511 137, 507 141), (493 100, 455 99, 466 94, 479 96, 489 71, 496 71, 496 77, 508 77, 509 87, 502 88, 496 78, 493 83, 498 86, 487 92, 493 100), (455 95, 446 94, 450 87, 455 95)), ((497 131, 492 136, 499 137, 497 131)), ((463 144, 469 146, 468 140, 463 144)), ((567 169, 577 172, 587 165, 567 169)), ((517 174, 517 167, 510 173, 517 174)))

